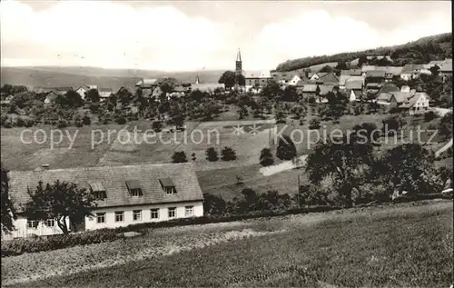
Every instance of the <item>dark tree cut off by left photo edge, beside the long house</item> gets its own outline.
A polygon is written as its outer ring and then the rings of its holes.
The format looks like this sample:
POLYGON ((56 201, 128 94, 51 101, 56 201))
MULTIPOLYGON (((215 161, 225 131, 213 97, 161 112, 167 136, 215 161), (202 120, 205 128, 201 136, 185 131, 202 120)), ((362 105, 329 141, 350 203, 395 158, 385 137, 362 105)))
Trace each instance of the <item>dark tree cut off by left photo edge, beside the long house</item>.
POLYGON ((15 207, 9 197, 8 170, 1 164, 1 199, 2 199, 2 231, 10 233, 15 229, 15 207))

